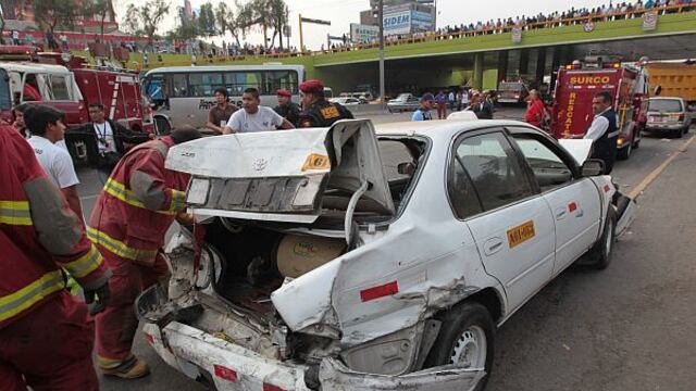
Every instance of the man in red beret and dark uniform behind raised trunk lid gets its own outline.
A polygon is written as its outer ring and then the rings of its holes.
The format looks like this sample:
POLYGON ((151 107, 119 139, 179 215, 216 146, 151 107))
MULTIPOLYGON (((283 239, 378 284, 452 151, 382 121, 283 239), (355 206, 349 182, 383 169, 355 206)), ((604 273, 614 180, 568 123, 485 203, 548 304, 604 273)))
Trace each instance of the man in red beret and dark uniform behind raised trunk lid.
POLYGON ((352 119, 352 113, 338 103, 324 99, 324 85, 310 79, 300 85, 301 101, 304 109, 300 113, 299 127, 331 126, 338 119, 352 119))

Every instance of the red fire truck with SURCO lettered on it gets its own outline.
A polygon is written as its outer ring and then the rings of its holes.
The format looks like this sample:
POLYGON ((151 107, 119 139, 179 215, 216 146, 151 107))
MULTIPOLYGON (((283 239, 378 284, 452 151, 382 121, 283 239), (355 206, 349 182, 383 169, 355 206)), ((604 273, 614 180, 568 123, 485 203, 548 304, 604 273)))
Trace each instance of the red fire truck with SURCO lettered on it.
POLYGON ((648 81, 639 63, 610 55, 589 55, 558 72, 550 133, 556 138, 582 138, 594 119, 592 100, 607 91, 613 99, 619 128, 618 159, 626 160, 641 143, 647 121, 648 81))

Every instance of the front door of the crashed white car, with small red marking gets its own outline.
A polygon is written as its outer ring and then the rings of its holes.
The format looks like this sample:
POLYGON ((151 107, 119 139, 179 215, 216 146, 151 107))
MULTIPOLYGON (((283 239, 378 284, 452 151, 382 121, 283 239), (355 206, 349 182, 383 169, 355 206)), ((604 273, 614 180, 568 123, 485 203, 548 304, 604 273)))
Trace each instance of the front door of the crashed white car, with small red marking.
POLYGON ((597 187, 580 175, 573 157, 548 137, 525 128, 510 131, 554 213, 557 275, 597 240, 601 220, 597 187))

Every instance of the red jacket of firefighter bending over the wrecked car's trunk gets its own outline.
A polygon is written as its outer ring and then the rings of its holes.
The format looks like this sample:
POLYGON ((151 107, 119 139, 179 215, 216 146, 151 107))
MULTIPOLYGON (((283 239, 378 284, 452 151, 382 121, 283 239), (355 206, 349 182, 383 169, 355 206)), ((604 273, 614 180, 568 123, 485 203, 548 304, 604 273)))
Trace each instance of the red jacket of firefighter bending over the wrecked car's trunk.
POLYGON ((87 234, 105 254, 151 265, 164 234, 185 209, 188 174, 164 168, 171 137, 132 149, 114 167, 87 234))

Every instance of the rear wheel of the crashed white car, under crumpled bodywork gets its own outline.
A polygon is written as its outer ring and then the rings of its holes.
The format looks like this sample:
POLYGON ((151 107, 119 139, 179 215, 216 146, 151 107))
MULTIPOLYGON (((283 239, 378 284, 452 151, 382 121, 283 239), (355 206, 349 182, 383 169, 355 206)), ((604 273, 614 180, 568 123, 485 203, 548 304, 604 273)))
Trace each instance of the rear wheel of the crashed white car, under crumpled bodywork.
POLYGON ((490 377, 495 351, 495 324, 490 313, 482 304, 468 301, 442 313, 437 319, 443 325, 424 367, 459 363, 464 367, 477 368, 483 364, 486 376, 475 389, 483 391, 490 377))

